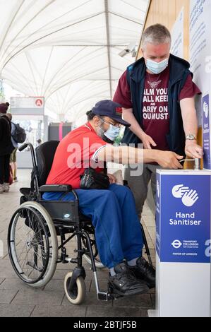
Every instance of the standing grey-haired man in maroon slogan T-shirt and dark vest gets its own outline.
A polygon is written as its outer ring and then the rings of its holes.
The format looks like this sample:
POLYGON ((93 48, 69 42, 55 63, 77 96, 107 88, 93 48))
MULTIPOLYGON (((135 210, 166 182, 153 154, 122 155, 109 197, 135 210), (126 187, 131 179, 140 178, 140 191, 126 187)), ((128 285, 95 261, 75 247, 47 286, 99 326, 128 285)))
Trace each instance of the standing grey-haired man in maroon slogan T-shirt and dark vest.
MULTIPOLYGON (((179 155, 202 158, 203 149, 196 141, 198 121, 194 97, 200 90, 193 83, 193 74, 187 61, 170 54, 171 35, 164 25, 151 25, 143 32, 143 57, 119 79, 114 102, 123 107, 126 128, 122 143, 143 148, 171 150, 179 155)), ((135 205, 141 215, 147 186, 151 179, 156 197, 156 169, 158 165, 143 166, 143 174, 132 176, 127 167, 125 179, 135 196, 135 205)))

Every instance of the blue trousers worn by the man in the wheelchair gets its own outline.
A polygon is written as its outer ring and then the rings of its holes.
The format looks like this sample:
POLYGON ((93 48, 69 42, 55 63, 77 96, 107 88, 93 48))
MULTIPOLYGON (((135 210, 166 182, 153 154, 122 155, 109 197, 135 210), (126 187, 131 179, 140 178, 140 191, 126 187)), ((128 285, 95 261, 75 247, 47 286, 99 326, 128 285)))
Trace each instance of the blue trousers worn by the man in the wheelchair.
MULTIPOLYGON (((100 259, 111 268, 123 259, 131 261, 141 256, 143 236, 130 189, 110 184, 108 190, 76 189, 80 211, 92 219, 100 259)), ((63 193, 44 193, 44 200, 59 200, 63 193)), ((72 193, 62 201, 73 201, 72 193)))

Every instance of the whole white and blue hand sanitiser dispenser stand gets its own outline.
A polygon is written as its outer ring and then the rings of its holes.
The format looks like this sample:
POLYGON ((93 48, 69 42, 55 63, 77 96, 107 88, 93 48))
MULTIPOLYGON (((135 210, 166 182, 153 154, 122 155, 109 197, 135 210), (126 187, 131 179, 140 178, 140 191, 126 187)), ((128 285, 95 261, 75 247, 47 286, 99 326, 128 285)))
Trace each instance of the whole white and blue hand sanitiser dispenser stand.
POLYGON ((194 161, 194 170, 157 170, 156 309, 149 316, 211 316, 211 172, 194 161))

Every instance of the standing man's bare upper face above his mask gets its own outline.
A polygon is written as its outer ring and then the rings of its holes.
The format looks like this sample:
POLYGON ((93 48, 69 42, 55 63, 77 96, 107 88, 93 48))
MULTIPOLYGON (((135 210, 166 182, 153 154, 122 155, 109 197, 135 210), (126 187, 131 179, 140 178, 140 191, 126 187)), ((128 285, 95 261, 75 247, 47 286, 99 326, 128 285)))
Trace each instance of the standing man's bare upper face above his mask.
POLYGON ((161 62, 164 59, 169 58, 170 55, 170 44, 160 44, 153 45, 147 43, 143 49, 143 57, 145 58, 145 63, 147 59, 161 62))

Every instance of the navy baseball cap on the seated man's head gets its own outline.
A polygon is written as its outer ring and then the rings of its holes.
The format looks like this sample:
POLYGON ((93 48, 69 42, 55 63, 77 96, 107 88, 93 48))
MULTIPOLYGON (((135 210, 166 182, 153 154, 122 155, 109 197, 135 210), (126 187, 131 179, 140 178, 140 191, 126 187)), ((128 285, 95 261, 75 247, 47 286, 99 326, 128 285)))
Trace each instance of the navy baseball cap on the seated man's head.
POLYGON ((104 115, 119 122, 119 124, 123 124, 123 126, 131 126, 131 124, 128 124, 128 122, 121 118, 121 105, 117 104, 117 102, 112 102, 112 100, 101 100, 97 102, 97 104, 92 107, 92 114, 104 115))

